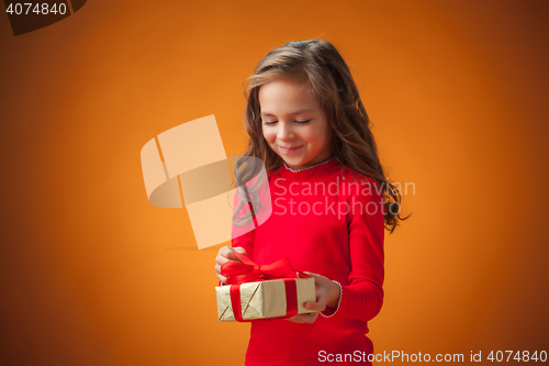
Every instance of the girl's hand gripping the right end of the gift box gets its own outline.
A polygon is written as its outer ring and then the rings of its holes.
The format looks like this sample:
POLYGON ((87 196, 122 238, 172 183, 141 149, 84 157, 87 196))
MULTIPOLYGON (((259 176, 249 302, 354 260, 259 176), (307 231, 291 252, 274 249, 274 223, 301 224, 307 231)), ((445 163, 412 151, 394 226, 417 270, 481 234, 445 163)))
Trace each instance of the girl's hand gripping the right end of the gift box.
POLYGON ((326 306, 332 308, 337 307, 337 302, 339 301, 339 286, 327 277, 310 271, 304 273, 314 278, 316 289, 316 302, 307 301, 305 302, 305 308, 315 312, 310 314, 296 314, 287 320, 295 323, 314 323, 320 312, 326 309, 326 306))

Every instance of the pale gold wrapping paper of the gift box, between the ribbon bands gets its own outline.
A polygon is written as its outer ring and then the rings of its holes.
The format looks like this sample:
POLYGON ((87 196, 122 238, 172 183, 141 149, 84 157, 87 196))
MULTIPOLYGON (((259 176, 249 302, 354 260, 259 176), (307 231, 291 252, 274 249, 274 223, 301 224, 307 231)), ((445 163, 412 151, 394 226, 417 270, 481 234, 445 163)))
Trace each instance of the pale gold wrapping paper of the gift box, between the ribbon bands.
MULTIPOLYGON (((298 288, 298 313, 311 313, 304 307, 307 301, 316 301, 314 278, 295 278, 298 288)), ((235 321, 231 304, 231 286, 217 286, 217 319, 235 321)), ((240 285, 240 304, 244 320, 278 318, 285 315, 284 281, 280 279, 246 282, 240 285)))

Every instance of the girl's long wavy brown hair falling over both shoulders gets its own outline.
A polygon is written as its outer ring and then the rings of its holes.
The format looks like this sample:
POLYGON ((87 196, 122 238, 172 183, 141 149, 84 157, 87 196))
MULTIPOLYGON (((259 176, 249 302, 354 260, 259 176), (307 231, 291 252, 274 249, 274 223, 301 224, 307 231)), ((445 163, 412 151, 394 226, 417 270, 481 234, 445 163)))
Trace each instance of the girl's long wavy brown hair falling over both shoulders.
MULTIPOLYGON (((276 174, 282 167, 282 158, 268 146, 264 137, 259 106, 259 88, 281 79, 304 82, 312 91, 328 120, 332 153, 344 168, 354 169, 376 181, 383 198, 384 228, 393 233, 399 221, 410 215, 400 215, 401 193, 385 177, 370 131, 371 122, 349 67, 336 47, 323 40, 290 42, 271 51, 246 79, 244 121, 249 143, 243 158, 235 165, 236 192, 240 203, 233 214, 233 222, 237 223, 236 215, 244 202, 259 201, 254 185, 246 187, 245 184, 258 176, 264 167, 247 164, 246 157, 261 159, 269 174, 276 174)), ((253 211, 250 207, 248 220, 255 215, 253 211)))

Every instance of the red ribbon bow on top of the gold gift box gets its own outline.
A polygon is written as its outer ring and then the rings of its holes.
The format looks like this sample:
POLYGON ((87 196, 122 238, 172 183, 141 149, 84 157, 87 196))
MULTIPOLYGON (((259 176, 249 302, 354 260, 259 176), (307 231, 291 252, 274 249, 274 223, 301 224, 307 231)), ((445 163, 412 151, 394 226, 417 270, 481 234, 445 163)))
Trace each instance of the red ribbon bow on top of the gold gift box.
MULTIPOLYGON (((258 265, 242 253, 236 251, 233 253, 243 263, 226 262, 221 266, 221 274, 227 277, 227 285, 262 281, 266 279, 299 278, 299 271, 292 268, 288 258, 277 260, 269 265, 258 265)), ((309 277, 305 274, 302 275, 303 277, 309 277)))

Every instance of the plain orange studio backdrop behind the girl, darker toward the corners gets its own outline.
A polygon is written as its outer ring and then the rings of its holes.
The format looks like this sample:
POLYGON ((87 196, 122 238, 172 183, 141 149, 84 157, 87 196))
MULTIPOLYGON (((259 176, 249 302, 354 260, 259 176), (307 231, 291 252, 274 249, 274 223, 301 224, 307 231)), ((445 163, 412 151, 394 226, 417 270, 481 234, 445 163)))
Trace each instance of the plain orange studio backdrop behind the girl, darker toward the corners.
POLYGON ((385 236, 376 352, 549 351, 547 1, 200 3, 89 1, 18 37, 0 15, 0 363, 244 363, 249 324, 216 320, 222 245, 148 203, 139 151, 215 114, 242 154, 245 78, 312 37, 415 185, 385 236))

